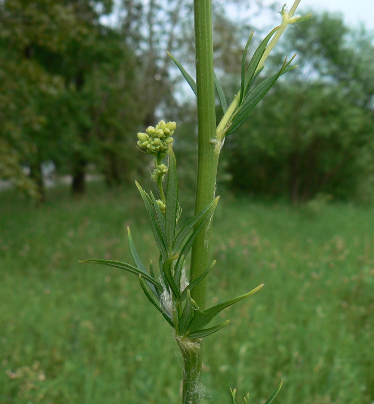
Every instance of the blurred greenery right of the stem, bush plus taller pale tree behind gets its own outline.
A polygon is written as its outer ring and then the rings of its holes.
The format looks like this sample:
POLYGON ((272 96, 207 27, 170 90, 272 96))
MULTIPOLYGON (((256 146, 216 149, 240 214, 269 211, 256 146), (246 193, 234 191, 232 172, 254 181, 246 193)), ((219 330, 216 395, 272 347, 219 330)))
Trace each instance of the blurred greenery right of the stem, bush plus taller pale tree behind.
POLYGON ((321 193, 372 200, 373 36, 323 14, 285 43, 299 68, 227 140, 232 187, 293 203, 321 193))

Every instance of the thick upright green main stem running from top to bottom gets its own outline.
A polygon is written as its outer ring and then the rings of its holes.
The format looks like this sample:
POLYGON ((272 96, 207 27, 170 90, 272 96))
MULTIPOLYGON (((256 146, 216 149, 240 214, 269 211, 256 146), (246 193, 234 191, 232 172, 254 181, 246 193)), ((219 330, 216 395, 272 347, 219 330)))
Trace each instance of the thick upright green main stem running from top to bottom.
MULTIPOLYGON (((214 95, 213 39, 211 0, 194 0, 196 84, 198 115, 198 168, 195 214, 214 199, 219 152, 211 140, 216 139, 214 95)), ((211 223, 207 223, 192 247, 190 282, 209 266, 211 223)), ((192 298, 200 309, 206 305, 206 279, 192 291, 192 298)), ((184 361, 183 404, 199 404, 200 395, 194 393, 199 385, 202 363, 201 344, 198 349, 182 349, 184 361)))

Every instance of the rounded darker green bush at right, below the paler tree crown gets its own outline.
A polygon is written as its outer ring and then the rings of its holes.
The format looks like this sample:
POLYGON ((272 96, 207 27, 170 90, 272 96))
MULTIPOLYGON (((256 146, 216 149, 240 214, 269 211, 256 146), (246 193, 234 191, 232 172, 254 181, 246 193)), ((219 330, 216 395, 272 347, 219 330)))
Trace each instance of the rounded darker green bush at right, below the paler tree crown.
POLYGON ((349 199, 373 173, 372 118, 339 86, 283 83, 243 126, 229 143, 237 190, 294 203, 321 192, 349 199))

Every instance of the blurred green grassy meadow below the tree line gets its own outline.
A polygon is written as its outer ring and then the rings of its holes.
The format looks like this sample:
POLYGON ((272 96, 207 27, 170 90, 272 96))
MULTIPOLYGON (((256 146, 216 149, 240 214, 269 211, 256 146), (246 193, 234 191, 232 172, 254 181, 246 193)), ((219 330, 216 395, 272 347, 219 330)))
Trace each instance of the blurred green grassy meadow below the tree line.
MULTIPOLYGON (((92 184, 79 201, 58 188, 41 208, 0 194, 1 404, 180 403, 171 328, 136 276, 77 263, 132 263, 127 225, 144 261, 157 262, 133 188, 92 184)), ((182 206, 186 220, 192 203, 182 206)), ((224 194, 208 305, 265 286, 226 309, 230 324, 205 340, 213 403, 228 404, 229 387, 264 403, 282 378, 277 403, 374 403, 373 224, 373 208, 224 194)))

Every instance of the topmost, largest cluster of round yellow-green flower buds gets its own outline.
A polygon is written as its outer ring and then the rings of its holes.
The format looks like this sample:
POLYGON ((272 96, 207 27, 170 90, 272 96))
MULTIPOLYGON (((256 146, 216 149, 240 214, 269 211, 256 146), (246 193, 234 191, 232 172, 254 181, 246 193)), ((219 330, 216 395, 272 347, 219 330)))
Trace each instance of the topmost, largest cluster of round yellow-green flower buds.
POLYGON ((145 149, 145 152, 152 156, 163 159, 168 154, 168 145, 173 142, 171 137, 176 129, 175 122, 160 121, 155 128, 150 126, 146 133, 139 132, 138 146, 145 149))

